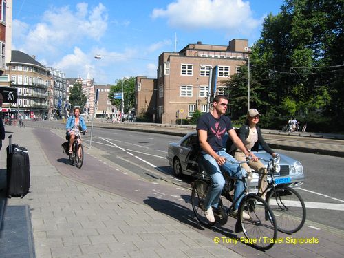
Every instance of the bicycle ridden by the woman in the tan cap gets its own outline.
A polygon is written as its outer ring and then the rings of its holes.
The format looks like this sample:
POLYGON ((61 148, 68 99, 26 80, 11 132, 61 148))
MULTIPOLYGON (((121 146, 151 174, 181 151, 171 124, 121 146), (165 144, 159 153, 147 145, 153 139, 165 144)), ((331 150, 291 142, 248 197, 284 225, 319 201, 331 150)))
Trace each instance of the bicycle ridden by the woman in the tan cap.
MULTIPOLYGON (((291 234, 299 231, 305 224, 306 210, 305 202, 295 189, 287 184, 290 178, 277 178, 279 173, 279 155, 276 158, 266 160, 268 162, 267 172, 270 175, 268 187, 260 194, 266 193, 266 202, 272 208, 277 221, 277 229, 283 233, 291 234)), ((256 171, 255 173, 261 173, 256 171)))

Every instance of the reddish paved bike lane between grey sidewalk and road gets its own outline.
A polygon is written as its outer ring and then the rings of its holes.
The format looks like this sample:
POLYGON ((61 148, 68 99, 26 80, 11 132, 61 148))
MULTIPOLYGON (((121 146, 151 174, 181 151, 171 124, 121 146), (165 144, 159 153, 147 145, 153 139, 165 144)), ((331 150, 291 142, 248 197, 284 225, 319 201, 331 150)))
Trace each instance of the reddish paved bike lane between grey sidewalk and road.
MULTIPOLYGON (((224 226, 215 225, 211 229, 201 228, 193 215, 189 189, 183 189, 162 180, 144 180, 106 160, 103 155, 107 153, 94 147, 85 148, 84 164, 82 169, 78 169, 70 166, 67 155, 62 153, 63 133, 61 131, 57 133, 59 136, 62 135, 62 138, 56 137, 56 132, 45 129, 36 129, 34 133, 42 139, 41 145, 47 158, 62 175, 140 204, 147 204, 155 211, 189 226, 197 233, 202 233, 211 239, 218 237, 219 244, 244 257, 257 255, 259 257, 343 257, 344 255, 342 232, 335 233, 332 228, 325 228, 322 225, 314 226, 309 222, 306 222, 305 226, 293 235, 279 233, 279 243, 266 252, 260 252, 240 242, 240 239, 244 241, 244 234, 233 232, 235 227, 233 218, 228 218, 228 223, 224 226), (239 239, 239 241, 235 242, 234 239, 239 239)), ((129 153, 127 153, 127 159, 132 159, 129 153)), ((217 245, 214 244, 214 246, 217 245)))

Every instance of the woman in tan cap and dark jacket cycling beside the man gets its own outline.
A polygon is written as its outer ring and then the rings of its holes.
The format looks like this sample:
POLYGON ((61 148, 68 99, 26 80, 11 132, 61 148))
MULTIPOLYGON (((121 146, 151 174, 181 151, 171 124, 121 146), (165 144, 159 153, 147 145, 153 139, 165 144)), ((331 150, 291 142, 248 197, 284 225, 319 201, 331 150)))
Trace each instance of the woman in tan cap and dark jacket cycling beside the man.
MULTIPOLYGON (((275 158, 276 153, 275 151, 272 151, 268 144, 266 144, 263 136, 261 136, 261 129, 257 126, 259 122, 259 112, 257 109, 250 109, 247 112, 247 117, 246 117, 246 123, 245 125, 242 125, 239 129, 239 138, 241 139, 242 142, 244 142, 244 145, 246 149, 249 151, 258 150, 258 144, 261 144, 261 147, 263 147, 264 151, 272 155, 272 157, 275 158)), ((246 160, 246 155, 243 153, 241 150, 237 149, 235 145, 233 144, 232 146, 229 147, 228 150, 229 153, 234 153, 233 156, 235 160, 237 161, 244 161, 246 160)), ((259 182, 258 182, 258 191, 259 193, 264 193, 264 190, 266 189, 266 186, 268 185, 266 180, 266 168, 263 163, 259 160, 250 160, 247 164, 242 164, 242 167, 248 172, 248 177, 250 178, 250 173, 252 173, 252 169, 255 171, 261 172, 259 175, 259 182)), ((261 197, 265 200, 265 195, 262 195, 261 197)))

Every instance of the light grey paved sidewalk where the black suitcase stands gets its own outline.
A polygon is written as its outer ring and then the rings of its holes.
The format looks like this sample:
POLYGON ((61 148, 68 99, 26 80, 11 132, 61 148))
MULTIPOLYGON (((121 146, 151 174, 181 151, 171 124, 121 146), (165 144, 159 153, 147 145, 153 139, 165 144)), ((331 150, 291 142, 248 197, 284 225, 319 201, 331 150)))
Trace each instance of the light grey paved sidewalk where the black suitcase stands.
MULTIPOLYGON (((34 129, 6 130, 13 132, 13 142, 28 148, 31 171, 30 193, 23 199, 8 199, 6 211, 10 207, 30 207, 37 258, 241 257, 147 205, 63 177, 47 160, 39 139, 32 133, 34 129)), ((7 145, 6 140, 3 146, 7 145)), ((6 171, 5 160, 3 147, 1 173, 6 171)), ((0 189, 4 184, 1 178, 0 189)), ((21 234, 27 234, 27 241, 32 241, 30 232, 21 234)), ((8 250, 8 245, 0 238, 1 258, 34 257, 28 256, 28 250, 19 250, 19 246, 8 250)))

